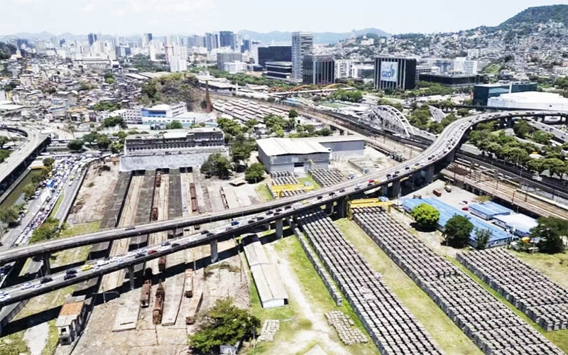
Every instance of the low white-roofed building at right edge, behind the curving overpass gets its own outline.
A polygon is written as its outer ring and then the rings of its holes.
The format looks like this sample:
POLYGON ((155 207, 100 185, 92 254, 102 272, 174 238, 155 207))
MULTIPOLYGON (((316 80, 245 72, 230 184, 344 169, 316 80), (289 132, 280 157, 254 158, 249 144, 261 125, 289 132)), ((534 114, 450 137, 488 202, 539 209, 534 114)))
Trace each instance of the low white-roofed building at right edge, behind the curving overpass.
POLYGON ((503 109, 568 111, 568 99, 552 92, 515 92, 490 97, 487 106, 503 109))

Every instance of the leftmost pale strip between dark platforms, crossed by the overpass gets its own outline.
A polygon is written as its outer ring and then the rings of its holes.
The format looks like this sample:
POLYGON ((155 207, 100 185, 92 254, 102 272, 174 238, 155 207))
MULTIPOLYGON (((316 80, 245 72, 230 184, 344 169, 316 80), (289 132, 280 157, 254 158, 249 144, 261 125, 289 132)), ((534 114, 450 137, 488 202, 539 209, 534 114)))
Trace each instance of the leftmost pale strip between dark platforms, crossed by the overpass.
MULTIPOLYGON (((126 195, 126 201, 124 202, 124 211, 122 212, 119 226, 130 226, 134 224, 136 219, 136 207, 138 206, 143 179, 143 175, 136 175, 132 177, 129 193, 126 195)), ((120 256, 128 253, 129 244, 130 238, 113 241, 109 256, 120 256)), ((122 283, 124 283, 125 273, 126 270, 122 269, 115 271, 114 273, 104 275, 99 288, 100 292, 107 292, 109 290, 119 288, 122 283)))

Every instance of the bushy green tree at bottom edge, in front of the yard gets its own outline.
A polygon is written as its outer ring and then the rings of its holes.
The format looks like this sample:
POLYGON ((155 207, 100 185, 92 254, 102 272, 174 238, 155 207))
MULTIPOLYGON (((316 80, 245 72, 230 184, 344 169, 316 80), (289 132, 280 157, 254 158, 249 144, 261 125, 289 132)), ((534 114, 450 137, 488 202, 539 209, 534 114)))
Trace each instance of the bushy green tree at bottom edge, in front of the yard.
POLYGON ((230 298, 217 300, 199 322, 200 330, 190 336, 190 345, 202 354, 219 354, 219 346, 250 339, 261 321, 233 305, 230 298))

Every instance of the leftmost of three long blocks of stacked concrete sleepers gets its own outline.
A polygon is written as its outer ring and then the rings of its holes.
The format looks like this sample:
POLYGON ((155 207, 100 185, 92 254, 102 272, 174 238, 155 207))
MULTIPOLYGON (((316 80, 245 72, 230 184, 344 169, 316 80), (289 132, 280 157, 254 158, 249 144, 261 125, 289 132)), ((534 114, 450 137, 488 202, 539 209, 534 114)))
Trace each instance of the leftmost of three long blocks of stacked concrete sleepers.
POLYGON ((306 212, 298 223, 381 354, 442 354, 321 209, 306 212))

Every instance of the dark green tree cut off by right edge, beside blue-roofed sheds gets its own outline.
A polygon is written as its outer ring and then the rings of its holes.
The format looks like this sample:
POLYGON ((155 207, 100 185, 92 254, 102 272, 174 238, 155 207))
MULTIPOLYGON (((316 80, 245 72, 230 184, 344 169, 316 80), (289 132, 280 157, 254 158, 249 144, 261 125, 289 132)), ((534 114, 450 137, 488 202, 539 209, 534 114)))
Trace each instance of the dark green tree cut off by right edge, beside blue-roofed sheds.
POLYGON ((568 220, 556 217, 540 217, 538 225, 530 229, 531 238, 540 238, 538 250, 541 253, 555 254, 565 250, 562 236, 568 236, 568 220))

